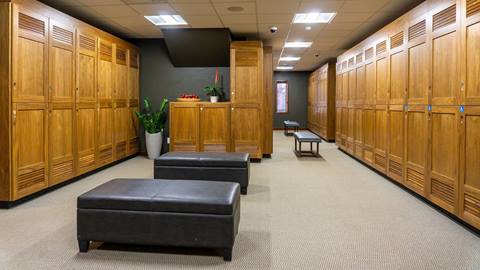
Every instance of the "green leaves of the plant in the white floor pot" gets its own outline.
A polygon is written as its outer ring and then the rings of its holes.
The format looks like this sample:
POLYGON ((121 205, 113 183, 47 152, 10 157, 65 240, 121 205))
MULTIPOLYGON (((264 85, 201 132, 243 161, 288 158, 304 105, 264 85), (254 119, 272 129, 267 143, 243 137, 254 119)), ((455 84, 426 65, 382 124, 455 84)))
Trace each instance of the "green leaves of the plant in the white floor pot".
POLYGON ((142 112, 135 112, 135 115, 142 123, 145 131, 150 134, 163 131, 167 122, 168 99, 164 98, 162 100, 160 109, 157 111, 153 111, 152 102, 149 98, 145 98, 143 104, 142 112))

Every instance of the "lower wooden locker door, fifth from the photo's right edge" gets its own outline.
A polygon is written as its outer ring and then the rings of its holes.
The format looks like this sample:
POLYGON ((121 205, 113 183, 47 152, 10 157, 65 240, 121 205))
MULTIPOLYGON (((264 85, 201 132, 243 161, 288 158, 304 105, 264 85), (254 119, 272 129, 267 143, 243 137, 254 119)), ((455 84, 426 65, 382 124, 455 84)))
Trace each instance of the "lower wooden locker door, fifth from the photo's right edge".
POLYGON ((377 107, 375 110, 375 167, 387 172, 387 110, 377 107))

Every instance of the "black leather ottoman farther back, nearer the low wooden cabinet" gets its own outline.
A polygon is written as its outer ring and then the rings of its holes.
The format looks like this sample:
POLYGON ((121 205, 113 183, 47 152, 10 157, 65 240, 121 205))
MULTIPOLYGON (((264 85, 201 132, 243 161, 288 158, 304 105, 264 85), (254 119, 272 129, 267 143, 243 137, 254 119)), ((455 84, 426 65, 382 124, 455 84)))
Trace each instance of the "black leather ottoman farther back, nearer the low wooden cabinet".
POLYGON ((155 159, 155 179, 236 182, 247 194, 250 156, 227 152, 168 152, 155 159))

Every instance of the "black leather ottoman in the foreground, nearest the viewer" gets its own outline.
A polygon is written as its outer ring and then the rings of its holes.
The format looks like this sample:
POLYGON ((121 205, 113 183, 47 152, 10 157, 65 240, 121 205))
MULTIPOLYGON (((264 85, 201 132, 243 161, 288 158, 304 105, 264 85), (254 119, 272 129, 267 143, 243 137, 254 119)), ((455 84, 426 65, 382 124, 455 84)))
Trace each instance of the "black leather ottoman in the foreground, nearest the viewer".
POLYGON ((230 261, 239 222, 237 183, 115 179, 77 201, 80 252, 101 241, 214 248, 230 261))

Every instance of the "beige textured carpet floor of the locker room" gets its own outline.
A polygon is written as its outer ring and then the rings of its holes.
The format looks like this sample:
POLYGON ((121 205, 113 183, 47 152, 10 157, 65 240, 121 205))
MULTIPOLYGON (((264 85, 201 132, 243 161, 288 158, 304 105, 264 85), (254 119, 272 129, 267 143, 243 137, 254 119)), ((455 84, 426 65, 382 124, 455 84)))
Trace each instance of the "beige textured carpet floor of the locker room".
POLYGON ((252 164, 233 261, 198 250, 101 245, 79 254, 76 197, 115 177, 151 177, 137 157, 0 210, 0 269, 480 269, 480 238, 322 143, 298 159, 274 135, 252 164), (119 249, 119 250, 117 250, 119 249))

